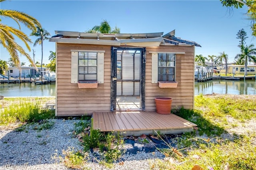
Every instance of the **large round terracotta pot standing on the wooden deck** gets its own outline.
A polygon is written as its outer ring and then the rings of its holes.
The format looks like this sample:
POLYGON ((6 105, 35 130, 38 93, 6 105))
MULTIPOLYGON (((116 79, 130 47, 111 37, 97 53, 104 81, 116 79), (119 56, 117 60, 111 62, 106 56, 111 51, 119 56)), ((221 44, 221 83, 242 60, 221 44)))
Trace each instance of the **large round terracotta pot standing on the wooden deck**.
POLYGON ((163 115, 171 113, 172 98, 155 98, 156 112, 163 115))

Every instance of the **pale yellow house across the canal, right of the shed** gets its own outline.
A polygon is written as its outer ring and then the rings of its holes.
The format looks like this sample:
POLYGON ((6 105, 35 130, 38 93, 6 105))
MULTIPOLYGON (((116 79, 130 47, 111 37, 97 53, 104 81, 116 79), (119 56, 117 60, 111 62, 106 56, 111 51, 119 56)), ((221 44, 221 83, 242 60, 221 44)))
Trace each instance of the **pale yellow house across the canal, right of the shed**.
MULTIPOLYGON (((244 65, 228 65, 228 73, 230 74, 244 74, 244 69, 244 65)), ((220 69, 220 72, 225 73, 226 66, 220 69)), ((247 65, 247 74, 256 74, 256 65, 247 65)))

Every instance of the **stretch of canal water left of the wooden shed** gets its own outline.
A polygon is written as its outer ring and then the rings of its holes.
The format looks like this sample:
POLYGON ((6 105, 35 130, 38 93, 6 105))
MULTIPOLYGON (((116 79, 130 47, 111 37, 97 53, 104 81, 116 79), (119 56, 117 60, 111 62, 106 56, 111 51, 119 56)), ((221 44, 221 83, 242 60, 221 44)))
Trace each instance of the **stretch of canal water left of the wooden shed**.
POLYGON ((0 84, 0 95, 5 97, 55 96, 55 83, 37 84, 0 84))

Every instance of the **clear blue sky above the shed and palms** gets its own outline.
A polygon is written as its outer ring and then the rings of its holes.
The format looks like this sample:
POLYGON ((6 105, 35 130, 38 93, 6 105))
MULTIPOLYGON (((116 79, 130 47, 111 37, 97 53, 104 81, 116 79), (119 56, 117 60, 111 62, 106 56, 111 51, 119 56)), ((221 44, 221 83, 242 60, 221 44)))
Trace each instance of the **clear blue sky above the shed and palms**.
MULTIPOLYGON (((250 20, 244 15, 247 8, 233 9, 223 7, 219 0, 165 0, 165 1, 87 1, 87 0, 6 0, 1 9, 18 10, 36 18, 42 27, 55 35, 58 31, 79 31, 91 29, 107 20, 111 27, 118 26, 121 33, 168 33, 176 30, 176 37, 196 41, 202 47, 196 47, 196 55, 218 56, 228 54, 229 62, 234 61, 239 39, 237 33, 244 29, 248 38, 246 44, 256 45, 251 36, 250 20)), ((18 28, 16 22, 1 18, 3 24, 18 28)), ((21 27, 29 35, 31 31, 21 27)), ((36 37, 30 37, 34 42, 36 37)), ((20 42, 17 38, 18 42, 20 42)), ((25 45, 20 42, 20 45, 25 45)), ((36 51, 35 62, 41 62, 41 47, 36 51)), ((8 61, 9 54, 1 46, 1 59, 8 61)), ((49 63, 49 51, 55 51, 55 43, 44 41, 43 63, 49 63)), ((33 51, 28 52, 33 58, 33 51)), ((25 57, 21 62, 29 65, 25 57)))

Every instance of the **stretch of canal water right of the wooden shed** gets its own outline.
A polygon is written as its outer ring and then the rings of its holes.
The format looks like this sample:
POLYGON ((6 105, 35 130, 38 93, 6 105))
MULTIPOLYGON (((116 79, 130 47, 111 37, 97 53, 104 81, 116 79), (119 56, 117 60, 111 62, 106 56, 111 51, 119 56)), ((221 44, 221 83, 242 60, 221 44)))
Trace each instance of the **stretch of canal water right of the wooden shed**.
POLYGON ((208 82, 195 82, 195 95, 201 93, 256 94, 256 82, 255 80, 212 80, 208 82))

